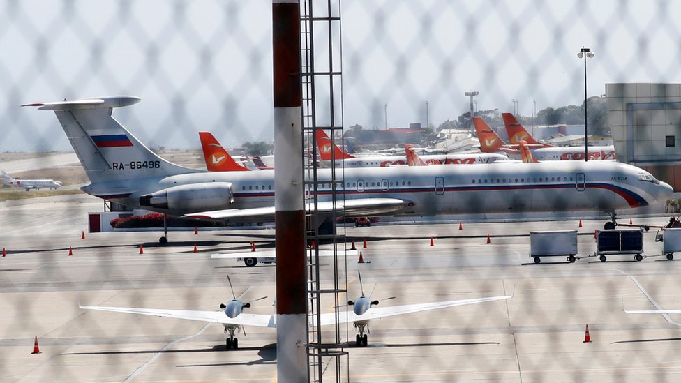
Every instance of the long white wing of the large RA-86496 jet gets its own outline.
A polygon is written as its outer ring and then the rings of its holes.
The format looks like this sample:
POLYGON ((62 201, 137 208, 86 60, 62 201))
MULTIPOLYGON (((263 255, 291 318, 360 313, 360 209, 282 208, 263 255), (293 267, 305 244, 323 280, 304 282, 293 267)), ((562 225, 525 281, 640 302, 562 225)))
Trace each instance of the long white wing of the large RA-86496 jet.
MULTIPOLYGON (((336 210, 345 208, 348 216, 375 216, 400 211, 413 202, 398 198, 359 198, 336 202, 336 210)), ((319 202, 317 211, 322 213, 331 212, 334 205, 331 201, 319 202)), ((253 209, 226 209, 214 211, 202 211, 200 213, 186 214, 187 218, 210 219, 210 220, 274 220, 274 206, 256 207, 253 209)))

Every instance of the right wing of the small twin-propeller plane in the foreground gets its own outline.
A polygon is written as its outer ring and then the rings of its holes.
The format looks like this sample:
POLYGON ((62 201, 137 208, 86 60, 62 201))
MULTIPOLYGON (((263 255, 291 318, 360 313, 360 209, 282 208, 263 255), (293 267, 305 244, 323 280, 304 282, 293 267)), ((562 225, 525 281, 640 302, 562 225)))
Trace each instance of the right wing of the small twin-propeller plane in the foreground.
MULTIPOLYGON (((484 303, 491 301, 500 301, 502 299, 510 299, 512 295, 505 296, 490 296, 488 298, 478 298, 478 299, 460 299, 458 301, 444 301, 444 302, 432 302, 432 303, 415 303, 411 305, 401 305, 401 306, 389 306, 389 307, 372 307, 366 310, 366 313, 362 315, 356 315, 354 311, 347 311, 347 316, 345 312, 340 313, 339 323, 345 322, 357 322, 361 320, 373 320, 380 319, 383 317, 392 317, 394 315, 403 315, 409 313, 418 313, 419 311, 427 310, 437 310, 439 308, 447 308, 454 306, 465 306, 475 303, 484 303)), ((324 313, 321 316, 322 326, 327 324, 334 324, 336 322, 335 313, 324 313)))

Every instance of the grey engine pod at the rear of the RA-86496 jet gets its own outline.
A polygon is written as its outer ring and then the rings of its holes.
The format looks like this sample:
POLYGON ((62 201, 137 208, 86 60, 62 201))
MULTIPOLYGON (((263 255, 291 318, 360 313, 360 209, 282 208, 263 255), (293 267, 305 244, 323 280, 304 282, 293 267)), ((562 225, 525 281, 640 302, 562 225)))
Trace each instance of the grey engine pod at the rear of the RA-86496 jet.
POLYGON ((141 206, 170 210, 227 209, 234 202, 230 182, 204 182, 173 186, 140 197, 141 206))

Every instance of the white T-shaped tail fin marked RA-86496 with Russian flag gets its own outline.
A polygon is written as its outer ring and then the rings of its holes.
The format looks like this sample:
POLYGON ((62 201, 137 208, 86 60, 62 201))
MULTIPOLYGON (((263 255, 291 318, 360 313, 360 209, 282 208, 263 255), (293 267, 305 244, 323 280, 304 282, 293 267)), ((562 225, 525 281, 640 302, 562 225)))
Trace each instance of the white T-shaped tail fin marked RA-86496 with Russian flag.
POLYGON ((112 117, 114 107, 133 105, 141 100, 133 96, 105 96, 22 106, 57 114, 91 183, 196 172, 160 158, 112 117))

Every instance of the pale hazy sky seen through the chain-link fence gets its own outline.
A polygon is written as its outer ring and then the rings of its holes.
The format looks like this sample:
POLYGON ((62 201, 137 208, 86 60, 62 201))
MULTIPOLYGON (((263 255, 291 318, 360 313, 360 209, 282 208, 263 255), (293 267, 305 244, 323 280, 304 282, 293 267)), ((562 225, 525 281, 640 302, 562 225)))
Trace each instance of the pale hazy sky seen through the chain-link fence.
MULTIPOLYGON (((610 82, 681 82, 681 24, 673 20, 681 1, 340 6, 334 36, 342 41, 346 127, 400 128, 426 118, 437 126, 468 110, 465 91, 479 91, 479 110, 512 112, 515 99, 527 116, 535 104, 579 105, 581 47, 596 53, 587 62, 589 96, 610 82)), ((271 141, 271 33, 264 0, 2 1, 0 151, 70 150, 52 112, 22 103, 112 94, 142 98, 114 117, 151 147, 197 148, 200 130, 226 147, 271 141)), ((325 58, 323 45, 315 51, 325 58)))

